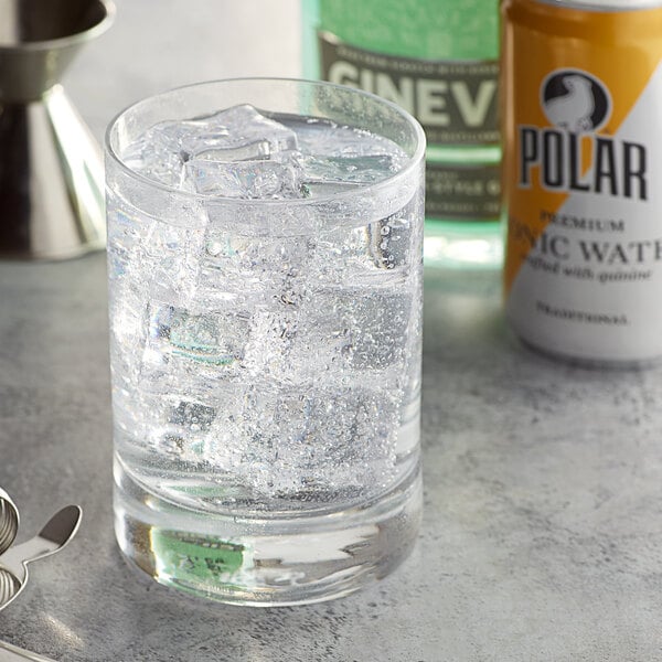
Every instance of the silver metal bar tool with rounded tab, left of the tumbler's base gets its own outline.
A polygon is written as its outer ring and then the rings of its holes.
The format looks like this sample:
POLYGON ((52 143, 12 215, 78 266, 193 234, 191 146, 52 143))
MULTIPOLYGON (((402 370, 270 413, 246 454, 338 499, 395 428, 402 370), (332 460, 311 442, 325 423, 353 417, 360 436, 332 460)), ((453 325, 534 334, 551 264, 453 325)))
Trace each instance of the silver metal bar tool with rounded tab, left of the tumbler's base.
MULTIPOLYGON (((0 555, 0 611, 13 602, 25 588, 28 564, 62 549, 78 531, 81 515, 79 506, 67 505, 55 513, 33 538, 14 545, 0 555)), ((1 521, 0 530, 2 530, 1 521)))

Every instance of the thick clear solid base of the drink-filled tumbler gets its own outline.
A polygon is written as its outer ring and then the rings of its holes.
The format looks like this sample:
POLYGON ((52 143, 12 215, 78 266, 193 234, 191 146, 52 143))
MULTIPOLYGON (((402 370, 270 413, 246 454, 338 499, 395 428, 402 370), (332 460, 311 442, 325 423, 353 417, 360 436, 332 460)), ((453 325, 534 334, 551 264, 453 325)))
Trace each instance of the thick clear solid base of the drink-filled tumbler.
POLYGON ((160 584, 221 602, 273 607, 346 596, 398 566, 420 523, 418 467, 372 502, 287 517, 183 509, 146 491, 119 462, 115 472, 124 554, 160 584))

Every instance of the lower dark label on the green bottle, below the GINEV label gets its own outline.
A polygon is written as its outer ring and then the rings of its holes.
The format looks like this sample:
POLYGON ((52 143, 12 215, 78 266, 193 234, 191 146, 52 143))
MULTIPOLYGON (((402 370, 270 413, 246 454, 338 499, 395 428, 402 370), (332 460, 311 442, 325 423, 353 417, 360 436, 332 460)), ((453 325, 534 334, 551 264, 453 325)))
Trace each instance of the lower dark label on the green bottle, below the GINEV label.
POLYGON ((498 164, 463 167, 428 161, 426 214, 445 220, 494 220, 500 213, 498 164))

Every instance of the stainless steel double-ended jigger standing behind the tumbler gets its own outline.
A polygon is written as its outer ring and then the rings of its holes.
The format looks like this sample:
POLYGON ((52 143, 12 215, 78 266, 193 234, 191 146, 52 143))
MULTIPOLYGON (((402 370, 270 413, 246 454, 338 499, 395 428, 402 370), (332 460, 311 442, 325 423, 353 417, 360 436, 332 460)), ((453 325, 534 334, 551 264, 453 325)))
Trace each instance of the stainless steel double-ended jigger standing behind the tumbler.
POLYGON ((0 256, 105 245, 100 148, 58 81, 105 32, 110 0, 0 0, 0 256))

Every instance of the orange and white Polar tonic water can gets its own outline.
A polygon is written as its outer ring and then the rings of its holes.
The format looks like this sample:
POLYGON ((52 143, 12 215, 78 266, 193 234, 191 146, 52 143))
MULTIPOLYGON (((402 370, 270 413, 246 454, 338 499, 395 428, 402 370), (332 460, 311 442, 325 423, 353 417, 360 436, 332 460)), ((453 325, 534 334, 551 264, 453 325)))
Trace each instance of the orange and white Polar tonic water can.
POLYGON ((508 319, 596 363, 662 355, 662 7, 502 2, 508 319))

